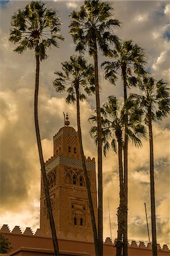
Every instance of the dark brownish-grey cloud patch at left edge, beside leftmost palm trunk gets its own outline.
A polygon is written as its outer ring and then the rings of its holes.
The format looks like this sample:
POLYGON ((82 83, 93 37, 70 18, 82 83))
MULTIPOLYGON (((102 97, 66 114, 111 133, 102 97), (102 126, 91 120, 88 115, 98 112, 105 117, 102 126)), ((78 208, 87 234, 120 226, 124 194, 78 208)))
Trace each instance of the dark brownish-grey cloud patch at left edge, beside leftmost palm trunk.
POLYGON ((27 200, 29 187, 28 163, 13 128, 8 129, 9 133, 1 139, 1 203, 5 208, 10 206, 11 210, 19 202, 27 200))

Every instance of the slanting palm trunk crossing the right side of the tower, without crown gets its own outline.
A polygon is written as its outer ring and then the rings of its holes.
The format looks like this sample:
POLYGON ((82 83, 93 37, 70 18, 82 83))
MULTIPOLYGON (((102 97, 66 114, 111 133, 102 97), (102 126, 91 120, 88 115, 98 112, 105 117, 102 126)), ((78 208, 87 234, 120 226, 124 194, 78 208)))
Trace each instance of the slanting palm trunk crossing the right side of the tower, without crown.
POLYGON ((82 147, 81 126, 80 126, 80 104, 79 104, 78 85, 76 85, 75 88, 76 88, 76 104, 77 104, 78 139, 79 139, 79 143, 80 143, 80 153, 81 153, 81 160, 82 160, 82 168, 83 168, 84 175, 85 175, 86 189, 87 189, 87 193, 88 193, 88 200, 89 200, 90 216, 91 216, 91 221, 92 221, 95 253, 96 253, 96 256, 98 256, 99 254, 98 254, 98 238, 97 238, 96 220, 95 220, 95 216, 94 216, 93 200, 92 200, 92 193, 91 193, 91 190, 90 190, 88 171, 86 169, 86 164, 85 164, 84 150, 83 150, 83 147, 82 147))

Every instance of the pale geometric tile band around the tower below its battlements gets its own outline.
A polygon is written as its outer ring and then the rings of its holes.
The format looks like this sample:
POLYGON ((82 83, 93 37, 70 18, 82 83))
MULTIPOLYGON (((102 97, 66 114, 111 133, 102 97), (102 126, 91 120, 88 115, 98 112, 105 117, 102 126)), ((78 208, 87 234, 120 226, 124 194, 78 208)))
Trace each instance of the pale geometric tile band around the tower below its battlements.
MULTIPOLYGON (((67 166, 75 166, 82 169, 82 161, 80 159, 68 158, 67 156, 57 156, 53 159, 46 167, 45 170, 47 173, 58 164, 65 164, 67 166)), ((86 161, 86 168, 88 170, 95 171, 95 163, 86 161)))

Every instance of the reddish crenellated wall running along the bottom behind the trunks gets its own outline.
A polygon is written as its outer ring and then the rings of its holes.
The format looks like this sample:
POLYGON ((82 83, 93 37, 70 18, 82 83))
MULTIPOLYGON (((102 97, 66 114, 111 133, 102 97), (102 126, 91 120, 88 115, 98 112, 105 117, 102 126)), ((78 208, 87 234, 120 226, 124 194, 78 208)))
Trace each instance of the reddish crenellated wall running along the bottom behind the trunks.
MULTIPOLYGON (((19 247, 32 247, 32 248, 42 248, 42 249, 52 249, 52 238, 51 233, 46 236, 42 230, 37 229, 35 233, 32 232, 31 228, 26 228, 24 232, 21 231, 19 226, 15 226, 12 231, 10 231, 8 225, 3 225, 0 232, 5 235, 11 242, 13 251, 19 247)), ((72 233, 64 234, 63 232, 57 233, 57 238, 59 239, 60 250, 70 250, 70 251, 86 251, 89 255, 94 255, 94 245, 92 242, 92 237, 82 237, 79 234, 74 236, 72 233)), ((103 251, 105 256, 115 255, 115 241, 112 242, 109 237, 106 238, 103 243, 103 251)), ((157 244, 157 251, 159 256, 169 256, 170 251, 167 245, 160 246, 157 244)), ((144 244, 144 242, 137 243, 132 241, 128 244, 128 255, 129 256, 151 256, 152 255, 152 245, 151 243, 144 244)))

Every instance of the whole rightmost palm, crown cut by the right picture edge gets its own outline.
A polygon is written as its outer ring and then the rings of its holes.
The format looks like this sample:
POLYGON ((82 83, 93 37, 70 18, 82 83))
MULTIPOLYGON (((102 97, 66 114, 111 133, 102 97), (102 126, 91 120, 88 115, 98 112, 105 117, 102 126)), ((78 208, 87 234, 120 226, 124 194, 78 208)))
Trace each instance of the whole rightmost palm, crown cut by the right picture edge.
MULTIPOLYGON (((143 95, 132 95, 137 98, 145 113, 150 141, 150 193, 151 193, 151 220, 152 220, 152 255, 157 256, 156 242, 156 213, 155 213, 155 183, 154 183, 154 139, 152 122, 161 120, 170 112, 170 97, 167 83, 163 80, 156 81, 153 77, 144 77, 139 84, 143 95)), ((138 101, 138 103, 139 103, 138 101)))

